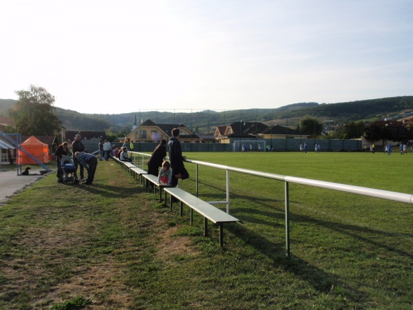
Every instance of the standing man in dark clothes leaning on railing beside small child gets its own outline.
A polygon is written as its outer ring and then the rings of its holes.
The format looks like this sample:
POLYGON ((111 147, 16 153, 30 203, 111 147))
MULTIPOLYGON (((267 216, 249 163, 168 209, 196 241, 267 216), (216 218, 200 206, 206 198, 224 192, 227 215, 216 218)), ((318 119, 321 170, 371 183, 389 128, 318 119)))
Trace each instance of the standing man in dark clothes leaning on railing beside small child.
POLYGON ((178 179, 185 180, 189 178, 189 173, 184 166, 184 156, 182 156, 182 148, 179 141, 179 128, 173 128, 172 136, 168 142, 169 161, 171 161, 172 167, 172 180, 171 185, 176 187, 178 185, 178 179))

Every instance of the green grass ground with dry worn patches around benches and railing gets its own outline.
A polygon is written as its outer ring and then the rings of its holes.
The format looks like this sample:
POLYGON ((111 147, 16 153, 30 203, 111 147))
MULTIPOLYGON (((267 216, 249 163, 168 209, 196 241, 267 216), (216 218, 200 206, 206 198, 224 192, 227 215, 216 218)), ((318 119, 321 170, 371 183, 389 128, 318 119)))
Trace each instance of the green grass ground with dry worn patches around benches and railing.
MULTIPOLYGON (((413 154, 187 153, 189 159, 411 193, 413 154)), ((195 165, 180 187, 195 192, 195 165)), ((225 172, 200 166, 204 200, 224 200, 225 172)), ((1 172, 0 172, 1 176, 1 172)), ((0 308, 412 309, 412 205, 230 172, 243 224, 202 236, 112 162, 95 185, 47 175, 0 207, 0 308)), ((225 209, 224 205, 219 206, 225 209)))

